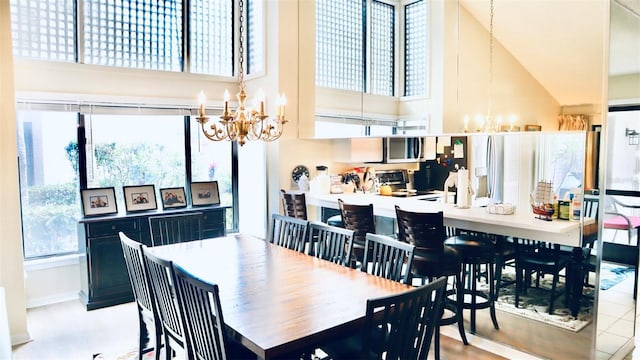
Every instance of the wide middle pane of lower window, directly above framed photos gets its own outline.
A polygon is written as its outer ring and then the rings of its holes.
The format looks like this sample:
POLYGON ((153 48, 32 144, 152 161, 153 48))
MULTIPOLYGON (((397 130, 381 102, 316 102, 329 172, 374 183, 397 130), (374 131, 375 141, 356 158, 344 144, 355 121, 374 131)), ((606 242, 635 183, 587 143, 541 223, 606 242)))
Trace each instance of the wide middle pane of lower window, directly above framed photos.
POLYGON ((86 119, 87 186, 115 187, 119 212, 125 211, 123 186, 153 184, 156 199, 161 188, 185 186, 184 117, 91 115, 86 119))

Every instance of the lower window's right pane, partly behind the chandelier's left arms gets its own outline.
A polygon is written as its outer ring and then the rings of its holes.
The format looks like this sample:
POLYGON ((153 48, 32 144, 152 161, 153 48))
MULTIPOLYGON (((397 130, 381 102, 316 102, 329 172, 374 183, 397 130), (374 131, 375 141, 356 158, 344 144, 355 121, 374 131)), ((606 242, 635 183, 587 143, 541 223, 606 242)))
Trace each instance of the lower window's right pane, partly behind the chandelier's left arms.
MULTIPOLYGON (((202 135, 200 124, 191 118, 192 181, 217 181, 220 205, 233 207, 232 153, 230 141, 211 141, 202 135)), ((227 209, 227 231, 233 226, 233 211, 227 209)))

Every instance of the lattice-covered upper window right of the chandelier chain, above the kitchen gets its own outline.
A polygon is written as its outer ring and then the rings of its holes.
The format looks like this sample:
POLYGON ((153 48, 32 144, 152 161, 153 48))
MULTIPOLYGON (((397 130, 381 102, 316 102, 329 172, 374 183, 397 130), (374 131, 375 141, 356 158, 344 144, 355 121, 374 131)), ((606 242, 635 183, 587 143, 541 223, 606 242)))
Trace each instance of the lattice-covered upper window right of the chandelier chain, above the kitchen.
POLYGON ((403 5, 404 41, 396 38, 400 1, 317 0, 316 86, 374 95, 425 96, 428 90, 427 0, 403 5), (404 55, 399 64, 398 54, 404 55), (397 69, 404 66, 398 79, 397 69), (400 81, 402 80, 402 81, 400 81), (403 90, 397 91, 397 84, 403 90))

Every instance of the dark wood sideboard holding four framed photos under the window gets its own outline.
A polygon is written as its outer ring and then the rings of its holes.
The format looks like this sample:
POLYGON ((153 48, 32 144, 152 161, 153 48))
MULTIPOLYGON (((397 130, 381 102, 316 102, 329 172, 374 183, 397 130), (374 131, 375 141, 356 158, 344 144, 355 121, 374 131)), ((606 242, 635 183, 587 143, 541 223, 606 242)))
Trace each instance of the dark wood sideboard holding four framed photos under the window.
POLYGON ((80 301, 87 310, 133 301, 133 292, 122 254, 122 231, 130 238, 151 246, 149 217, 202 212, 203 237, 226 235, 225 206, 158 210, 104 217, 83 218, 78 222, 80 301))

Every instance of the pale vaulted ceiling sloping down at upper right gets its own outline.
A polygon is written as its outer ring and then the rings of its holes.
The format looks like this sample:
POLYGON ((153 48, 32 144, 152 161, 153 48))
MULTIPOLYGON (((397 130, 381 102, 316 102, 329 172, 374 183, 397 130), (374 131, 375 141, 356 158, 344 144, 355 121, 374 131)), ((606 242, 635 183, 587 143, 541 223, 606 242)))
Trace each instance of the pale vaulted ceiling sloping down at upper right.
MULTIPOLYGON (((489 0, 460 3, 488 28, 489 0)), ((602 0, 494 0, 494 36, 561 105, 599 104, 605 9, 602 0)), ((639 73, 640 18, 620 4, 611 13, 610 73, 639 73)))

